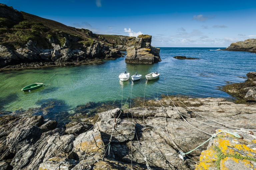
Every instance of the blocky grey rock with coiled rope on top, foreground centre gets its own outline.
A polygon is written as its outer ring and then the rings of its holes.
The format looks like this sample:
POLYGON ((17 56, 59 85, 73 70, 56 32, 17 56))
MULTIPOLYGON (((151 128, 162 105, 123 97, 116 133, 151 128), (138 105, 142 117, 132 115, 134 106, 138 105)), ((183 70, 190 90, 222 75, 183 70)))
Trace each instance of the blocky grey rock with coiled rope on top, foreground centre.
MULTIPOLYGON (((102 139, 105 143, 109 142, 113 129, 112 125, 107 125, 108 120, 109 119, 101 119, 100 123, 98 123, 102 139)), ((132 140, 134 135, 135 124, 131 120, 121 120, 121 122, 113 129, 111 142, 124 142, 127 140, 132 140)))

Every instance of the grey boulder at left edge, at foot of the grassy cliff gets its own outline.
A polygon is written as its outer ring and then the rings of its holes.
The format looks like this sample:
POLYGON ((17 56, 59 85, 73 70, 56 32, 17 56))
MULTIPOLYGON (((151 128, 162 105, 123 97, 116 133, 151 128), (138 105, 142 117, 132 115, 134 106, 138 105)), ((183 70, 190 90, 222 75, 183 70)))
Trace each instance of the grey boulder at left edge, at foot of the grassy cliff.
POLYGON ((7 47, 0 45, 0 67, 15 63, 19 58, 7 47))

